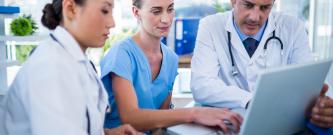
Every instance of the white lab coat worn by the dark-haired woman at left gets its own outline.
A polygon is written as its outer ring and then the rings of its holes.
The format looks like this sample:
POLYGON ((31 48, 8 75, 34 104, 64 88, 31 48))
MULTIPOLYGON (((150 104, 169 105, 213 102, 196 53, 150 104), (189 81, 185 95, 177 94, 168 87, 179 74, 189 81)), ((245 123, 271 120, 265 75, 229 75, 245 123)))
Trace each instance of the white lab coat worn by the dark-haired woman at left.
POLYGON ((104 135, 108 93, 79 44, 63 27, 61 43, 40 43, 0 106, 0 135, 104 135), (63 46, 63 47, 62 47, 63 46))

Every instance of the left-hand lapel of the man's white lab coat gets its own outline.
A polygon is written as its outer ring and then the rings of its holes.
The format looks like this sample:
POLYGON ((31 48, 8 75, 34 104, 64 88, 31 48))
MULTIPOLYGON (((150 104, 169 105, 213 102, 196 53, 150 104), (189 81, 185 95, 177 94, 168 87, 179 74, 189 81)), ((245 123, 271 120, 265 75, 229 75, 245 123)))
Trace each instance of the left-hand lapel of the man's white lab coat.
MULTIPOLYGON (((230 12, 230 15, 229 15, 228 19, 226 20, 226 24, 225 24, 224 29, 226 31, 230 32, 231 51, 232 51, 232 47, 233 47, 234 49, 237 50, 237 52, 239 52, 239 54, 241 54, 247 61, 249 61, 250 57, 248 56, 248 54, 246 52, 246 49, 243 45, 243 42, 241 41, 235 27, 233 26, 233 9, 230 12)), ((227 45, 228 45, 228 43, 227 43, 227 45)), ((234 51, 232 51, 232 56, 234 58, 233 60, 235 60, 235 57, 239 57, 239 56, 236 56, 234 51)), ((237 64, 235 64, 235 65, 237 65, 237 64)))

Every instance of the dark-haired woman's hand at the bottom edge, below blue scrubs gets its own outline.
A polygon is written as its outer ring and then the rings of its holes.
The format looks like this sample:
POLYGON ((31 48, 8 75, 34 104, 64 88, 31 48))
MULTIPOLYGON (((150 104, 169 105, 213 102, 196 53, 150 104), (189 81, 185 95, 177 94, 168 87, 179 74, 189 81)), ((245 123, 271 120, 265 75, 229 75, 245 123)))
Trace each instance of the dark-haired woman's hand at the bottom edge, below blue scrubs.
POLYGON ((104 129, 105 135, 146 135, 139 133, 132 126, 125 124, 114 129, 104 129))

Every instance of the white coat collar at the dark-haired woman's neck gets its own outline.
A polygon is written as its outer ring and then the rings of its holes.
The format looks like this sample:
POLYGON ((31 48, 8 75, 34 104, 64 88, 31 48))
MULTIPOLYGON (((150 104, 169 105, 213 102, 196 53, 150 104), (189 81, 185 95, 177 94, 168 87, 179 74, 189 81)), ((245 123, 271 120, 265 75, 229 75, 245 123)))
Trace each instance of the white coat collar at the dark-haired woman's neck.
POLYGON ((52 34, 59 44, 75 59, 76 61, 88 60, 85 53, 83 53, 80 45, 74 37, 62 26, 57 26, 52 34))

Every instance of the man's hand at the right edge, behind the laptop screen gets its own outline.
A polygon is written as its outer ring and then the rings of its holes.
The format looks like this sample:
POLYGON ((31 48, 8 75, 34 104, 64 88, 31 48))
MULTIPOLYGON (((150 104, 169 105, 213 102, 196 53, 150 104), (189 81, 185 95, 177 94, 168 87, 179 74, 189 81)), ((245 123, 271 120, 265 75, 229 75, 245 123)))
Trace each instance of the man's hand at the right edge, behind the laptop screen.
POLYGON ((329 85, 324 84, 316 106, 312 109, 310 122, 319 127, 330 129, 333 127, 333 99, 325 95, 328 89, 329 85))

